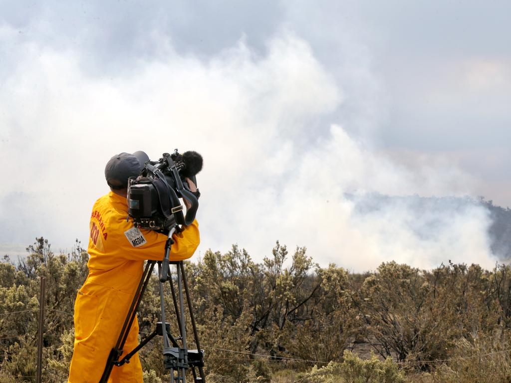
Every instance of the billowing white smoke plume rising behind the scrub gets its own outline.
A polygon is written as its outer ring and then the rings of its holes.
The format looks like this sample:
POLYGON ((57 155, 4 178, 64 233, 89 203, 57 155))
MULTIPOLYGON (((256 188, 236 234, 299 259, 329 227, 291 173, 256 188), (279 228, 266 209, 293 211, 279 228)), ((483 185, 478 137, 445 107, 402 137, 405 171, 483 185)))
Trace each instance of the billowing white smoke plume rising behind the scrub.
MULTIPOLYGON (((342 105, 342 84, 306 41, 282 32, 255 54, 241 39, 212 59, 177 54, 155 36, 159 58, 87 74, 83 52, 16 41, 3 27, 12 69, 0 88, 0 242, 56 247, 87 241, 90 208, 106 193, 106 161, 144 150, 153 159, 196 150, 202 253, 233 243, 267 256, 276 240, 306 246, 322 265, 355 270, 397 260, 423 268, 442 261, 494 263, 486 211, 466 203, 417 214, 406 201, 364 211, 374 194, 464 196, 475 182, 449 159, 412 167, 370 150, 320 117, 342 105), (316 132, 317 129, 317 132, 316 132), (432 224, 411 225, 429 219, 432 224)), ((348 95, 349 96, 349 95, 348 95)), ((378 201, 378 199, 375 199, 378 201)))

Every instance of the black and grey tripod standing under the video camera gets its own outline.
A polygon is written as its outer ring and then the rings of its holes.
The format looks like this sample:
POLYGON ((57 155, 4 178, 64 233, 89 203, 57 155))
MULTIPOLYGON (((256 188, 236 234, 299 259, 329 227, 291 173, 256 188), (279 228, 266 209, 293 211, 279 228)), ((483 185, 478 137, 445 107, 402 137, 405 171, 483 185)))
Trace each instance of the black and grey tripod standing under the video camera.
POLYGON ((176 227, 173 227, 168 235, 167 243, 165 245, 165 257, 162 261, 149 260, 146 263, 142 278, 138 283, 138 288, 131 302, 128 315, 124 321, 124 325, 121 329, 119 339, 112 348, 106 362, 105 370, 101 376, 100 383, 107 383, 108 377, 112 372, 112 368, 115 366, 122 366, 125 363, 129 363, 130 358, 142 347, 144 347, 151 339, 156 335, 163 337, 163 349, 162 355, 164 357, 164 366, 167 370, 170 370, 171 383, 186 383, 186 372, 188 368, 192 369, 192 374, 195 383, 205 383, 205 376, 203 371, 204 366, 204 351, 200 349, 199 335, 197 332, 197 326, 195 324, 195 317, 192 309, 192 301, 190 299, 190 293, 188 289, 188 282, 184 273, 183 261, 171 262, 169 260, 170 247, 174 243, 172 235, 176 231, 176 227), (137 347, 131 352, 126 354, 124 358, 119 361, 120 356, 123 353, 123 347, 128 338, 128 333, 135 319, 136 311, 140 305, 142 296, 146 290, 147 284, 153 272, 154 265, 158 264, 159 274, 159 296, 161 306, 161 322, 156 323, 154 331, 149 334, 137 347), (176 283, 177 283, 177 294, 176 286, 174 286, 174 280, 170 272, 170 265, 176 266, 176 283), (174 310, 176 314, 176 322, 179 328, 179 337, 174 338, 171 333, 170 323, 166 322, 165 313, 165 296, 164 296, 164 283, 169 281, 172 292, 172 300, 174 303, 174 310), (187 299, 188 312, 190 314, 190 320, 192 323, 193 333, 196 349, 188 349, 187 344, 187 331, 185 327, 184 317, 184 299, 183 299, 183 287, 184 293, 187 299), (164 326, 165 324, 165 326, 164 326), (179 344, 179 341, 181 344, 179 344))

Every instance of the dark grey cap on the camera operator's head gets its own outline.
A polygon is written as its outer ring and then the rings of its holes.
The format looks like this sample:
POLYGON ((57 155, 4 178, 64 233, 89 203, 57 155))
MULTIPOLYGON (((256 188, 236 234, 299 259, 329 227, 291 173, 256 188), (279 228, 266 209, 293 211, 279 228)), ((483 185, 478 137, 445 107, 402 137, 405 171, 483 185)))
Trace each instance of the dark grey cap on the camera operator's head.
POLYGON ((113 156, 105 166, 106 183, 112 189, 128 187, 128 178, 138 176, 147 161, 149 157, 142 151, 133 154, 123 152, 113 156))

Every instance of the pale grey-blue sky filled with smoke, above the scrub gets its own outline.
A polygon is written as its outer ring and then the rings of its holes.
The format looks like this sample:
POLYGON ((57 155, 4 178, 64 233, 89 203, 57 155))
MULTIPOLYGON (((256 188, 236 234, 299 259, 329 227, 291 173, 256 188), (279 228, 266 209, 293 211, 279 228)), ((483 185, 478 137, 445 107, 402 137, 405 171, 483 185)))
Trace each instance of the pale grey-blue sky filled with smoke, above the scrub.
POLYGON ((495 265, 473 201, 511 206, 511 3, 0 9, 3 253, 86 244, 108 159, 178 148, 204 158, 198 257, 278 240, 354 271, 495 265))

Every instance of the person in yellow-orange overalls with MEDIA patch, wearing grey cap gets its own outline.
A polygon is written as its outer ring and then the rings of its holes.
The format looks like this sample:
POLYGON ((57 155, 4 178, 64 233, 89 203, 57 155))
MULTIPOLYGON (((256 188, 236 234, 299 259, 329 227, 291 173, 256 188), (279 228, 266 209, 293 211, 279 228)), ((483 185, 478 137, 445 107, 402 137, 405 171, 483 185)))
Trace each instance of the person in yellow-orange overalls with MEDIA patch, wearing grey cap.
MULTIPOLYGON (((98 383, 110 350, 115 346, 129 306, 142 278, 144 260, 164 257, 167 235, 138 229, 128 220, 128 177, 136 177, 149 160, 146 153, 121 153, 105 167, 110 193, 92 207, 87 252, 89 274, 75 302, 75 343, 69 370, 69 383, 98 383)), ((186 179, 190 190, 195 184, 186 179)), ((184 200, 185 207, 190 208, 184 200)), ((199 245, 197 220, 173 235, 170 260, 190 258, 199 245)), ((122 357, 138 345, 135 318, 122 357)), ((115 367, 108 379, 112 383, 142 383, 142 366, 135 354, 129 364, 115 367)))

